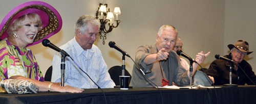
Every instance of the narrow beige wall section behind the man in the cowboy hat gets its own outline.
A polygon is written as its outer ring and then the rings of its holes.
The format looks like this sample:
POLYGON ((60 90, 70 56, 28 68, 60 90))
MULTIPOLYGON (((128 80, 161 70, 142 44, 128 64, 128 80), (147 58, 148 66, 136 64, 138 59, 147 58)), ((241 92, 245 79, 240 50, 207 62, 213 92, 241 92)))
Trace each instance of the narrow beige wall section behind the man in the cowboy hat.
POLYGON ((238 39, 244 39, 249 43, 249 50, 254 53, 246 56, 245 60, 250 63, 256 72, 256 1, 226 0, 225 5, 225 41, 224 53, 228 54, 228 44, 234 44, 238 39))

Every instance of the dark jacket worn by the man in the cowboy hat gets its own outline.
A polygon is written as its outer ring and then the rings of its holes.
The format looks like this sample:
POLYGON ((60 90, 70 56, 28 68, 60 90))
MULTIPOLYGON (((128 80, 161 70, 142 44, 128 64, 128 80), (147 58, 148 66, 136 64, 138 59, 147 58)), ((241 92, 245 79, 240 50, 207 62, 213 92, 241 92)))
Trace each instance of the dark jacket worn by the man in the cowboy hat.
MULTIPOLYGON (((231 54, 224 57, 231 59, 231 54)), ((237 71, 232 67, 232 84, 244 85, 246 83, 247 85, 253 85, 252 82, 256 83, 256 75, 252 71, 250 64, 243 60, 239 65, 242 69, 238 68, 237 71), (248 77, 250 77, 252 82, 244 74, 243 70, 248 77)), ((209 68, 205 72, 214 77, 215 85, 229 84, 229 67, 229 62, 217 59, 210 64, 209 68)))

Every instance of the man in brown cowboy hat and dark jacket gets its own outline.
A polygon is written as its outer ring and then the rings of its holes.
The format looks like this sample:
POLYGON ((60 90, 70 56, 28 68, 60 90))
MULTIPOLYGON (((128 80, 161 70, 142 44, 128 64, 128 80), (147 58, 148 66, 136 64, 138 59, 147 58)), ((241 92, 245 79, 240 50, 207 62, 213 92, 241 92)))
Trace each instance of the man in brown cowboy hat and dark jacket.
MULTIPOLYGON (((249 51, 248 42, 239 39, 234 45, 229 44, 228 48, 231 53, 224 57, 234 61, 232 67, 232 84, 244 85, 246 83, 247 85, 255 85, 256 75, 252 71, 250 64, 244 60, 246 55, 253 52, 249 51)), ((214 77, 215 85, 229 84, 229 67, 230 64, 228 61, 217 59, 210 64, 206 73, 214 77)))

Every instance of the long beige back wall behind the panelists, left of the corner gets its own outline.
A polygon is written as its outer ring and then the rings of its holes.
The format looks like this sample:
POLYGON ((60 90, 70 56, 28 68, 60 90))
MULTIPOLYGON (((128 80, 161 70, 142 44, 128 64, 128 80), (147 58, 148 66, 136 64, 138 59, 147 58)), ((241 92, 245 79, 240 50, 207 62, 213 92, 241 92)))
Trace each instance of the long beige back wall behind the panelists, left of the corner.
MULTIPOLYGON (((19 0, 0 1, 0 19, 2 20, 12 8, 24 2, 19 0)), ((78 17, 83 14, 95 15, 99 3, 107 3, 111 10, 115 6, 121 8, 122 15, 119 18, 122 22, 119 27, 107 34, 105 45, 102 44, 102 40, 95 42, 101 49, 103 58, 109 68, 122 64, 122 55, 119 51, 109 47, 109 41, 115 41, 132 58, 135 58, 135 51, 138 46, 155 43, 156 33, 162 24, 172 24, 178 29, 179 36, 184 44, 183 51, 191 57, 195 58, 195 55, 201 50, 205 52, 211 51, 211 55, 202 64, 203 67, 208 67, 209 63, 215 59, 214 56, 216 54, 226 54, 225 49, 227 48, 223 46, 230 42, 233 43, 239 38, 237 35, 228 43, 224 41, 227 40, 225 35, 232 33, 233 26, 232 24, 229 27, 225 25, 225 23, 231 22, 225 16, 225 13, 228 14, 225 9, 235 12, 232 11, 232 8, 233 5, 236 5, 228 3, 228 1, 226 5, 225 1, 222 0, 196 0, 191 2, 179 0, 54 0, 45 2, 55 7, 63 20, 61 31, 49 38, 57 46, 68 42, 74 37, 74 23, 78 17), (226 29, 230 32, 226 31, 226 29)), ((246 7, 246 5, 244 6, 246 7)), ((228 19, 231 18, 230 16, 228 19)), ((241 21, 240 23, 243 22, 241 21)), ((255 25, 253 26, 255 27, 255 25)), ((255 37, 255 35, 253 36, 255 37)), ((253 40, 248 40, 248 42, 251 44, 253 40)), ((41 44, 29 48, 32 49, 33 54, 36 56, 41 71, 45 73, 47 68, 51 66, 55 51, 41 44)), ((253 47, 250 47, 250 49, 253 50, 253 47)), ((250 58, 252 57, 250 56, 250 58)), ((132 60, 126 57, 125 65, 126 69, 132 73, 132 60)))

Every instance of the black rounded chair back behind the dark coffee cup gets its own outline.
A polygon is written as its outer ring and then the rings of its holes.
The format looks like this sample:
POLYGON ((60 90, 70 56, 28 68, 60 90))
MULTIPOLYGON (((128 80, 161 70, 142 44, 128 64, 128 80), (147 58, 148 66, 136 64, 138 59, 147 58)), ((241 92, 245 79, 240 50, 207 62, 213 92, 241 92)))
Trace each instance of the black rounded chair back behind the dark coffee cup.
MULTIPOLYGON (((109 69, 110 77, 116 84, 116 86, 119 84, 119 75, 122 75, 122 67, 121 66, 113 66, 109 69)), ((131 76, 131 74, 125 69, 124 75, 131 76)), ((132 79, 132 76, 131 76, 132 79)), ((130 79, 130 81, 131 81, 130 79)))

